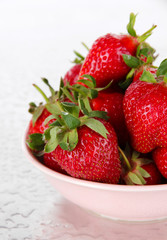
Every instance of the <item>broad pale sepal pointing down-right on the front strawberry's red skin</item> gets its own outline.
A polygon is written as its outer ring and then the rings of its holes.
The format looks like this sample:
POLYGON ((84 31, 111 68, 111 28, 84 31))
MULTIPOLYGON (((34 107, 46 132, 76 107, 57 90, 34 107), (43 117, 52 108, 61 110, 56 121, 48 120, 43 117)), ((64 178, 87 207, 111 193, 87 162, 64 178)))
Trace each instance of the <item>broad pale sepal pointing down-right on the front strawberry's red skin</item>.
POLYGON ((103 123, 101 123, 100 121, 94 118, 89 118, 84 121, 84 125, 92 129, 93 131, 99 133, 104 138, 107 138, 108 131, 103 125, 103 123))

